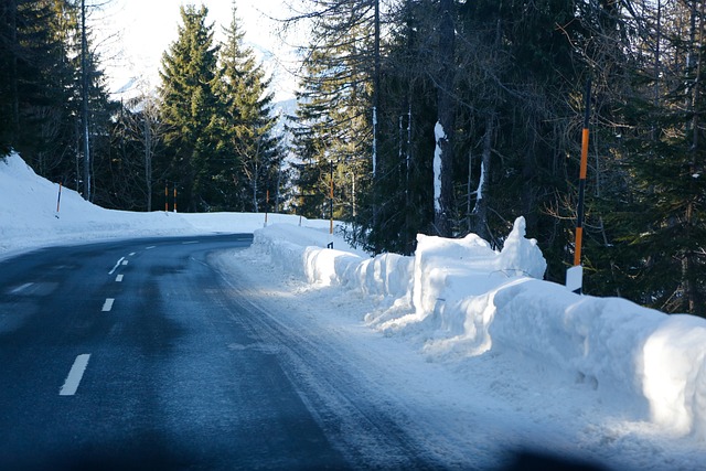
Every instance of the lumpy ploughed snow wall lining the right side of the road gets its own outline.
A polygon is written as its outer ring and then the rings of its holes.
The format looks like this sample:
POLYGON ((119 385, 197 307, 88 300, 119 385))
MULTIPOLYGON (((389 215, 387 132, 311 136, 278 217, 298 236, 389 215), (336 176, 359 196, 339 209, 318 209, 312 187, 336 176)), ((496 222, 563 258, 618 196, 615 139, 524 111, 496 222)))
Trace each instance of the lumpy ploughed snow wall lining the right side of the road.
POLYGON ((322 237, 274 225, 255 232, 254 249, 310 283, 373 297, 381 309, 368 324, 418 342, 432 361, 533 362, 621 402, 634 420, 706 440, 706 320, 542 281, 546 261, 523 218, 501 251, 472 234, 419 235, 413 257, 370 258, 323 248, 322 237))

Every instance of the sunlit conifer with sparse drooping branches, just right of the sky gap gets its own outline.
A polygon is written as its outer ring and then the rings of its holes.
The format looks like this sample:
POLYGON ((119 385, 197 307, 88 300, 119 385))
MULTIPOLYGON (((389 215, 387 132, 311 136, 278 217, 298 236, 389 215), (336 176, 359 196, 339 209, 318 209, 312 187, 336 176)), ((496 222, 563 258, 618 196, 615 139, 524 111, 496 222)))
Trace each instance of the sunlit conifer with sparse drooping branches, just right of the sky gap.
POLYGON ((296 205, 307 216, 328 217, 331 173, 339 218, 352 218, 371 184, 374 7, 362 0, 317 0, 307 15, 312 38, 289 127, 299 159, 296 205))

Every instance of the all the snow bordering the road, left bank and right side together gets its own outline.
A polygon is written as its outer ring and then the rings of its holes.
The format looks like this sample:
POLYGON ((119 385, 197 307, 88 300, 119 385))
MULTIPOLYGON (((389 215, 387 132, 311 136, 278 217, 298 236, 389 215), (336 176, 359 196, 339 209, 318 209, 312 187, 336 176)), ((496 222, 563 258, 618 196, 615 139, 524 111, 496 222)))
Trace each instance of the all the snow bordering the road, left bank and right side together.
POLYGON ((522 218, 499 253, 473 235, 420 235, 413 257, 371 258, 338 237, 327 249, 328 222, 107 211, 65 189, 57 213, 57 195, 18 156, 0 161, 0 258, 115 237, 254 232, 252 248, 222 261, 248 261, 250 276, 292 295, 280 297, 288 315, 387 372, 371 381, 447 436, 440 452, 458 454, 451 461, 489 468, 530 447, 613 469, 706 469, 706 320, 542 281, 545 261, 522 218))

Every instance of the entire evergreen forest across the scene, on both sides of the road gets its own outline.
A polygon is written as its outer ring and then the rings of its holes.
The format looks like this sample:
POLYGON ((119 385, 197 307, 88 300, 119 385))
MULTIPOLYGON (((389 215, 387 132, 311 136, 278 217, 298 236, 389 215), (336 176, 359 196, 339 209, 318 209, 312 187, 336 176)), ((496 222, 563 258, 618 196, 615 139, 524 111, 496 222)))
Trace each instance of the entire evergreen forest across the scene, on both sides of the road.
POLYGON ((309 0, 287 138, 235 4, 220 42, 181 7, 118 103, 86 2, 0 0, 0 151, 87 200, 332 213, 371 254, 524 216, 563 282, 588 111, 584 290, 706 317, 706 0, 309 0))

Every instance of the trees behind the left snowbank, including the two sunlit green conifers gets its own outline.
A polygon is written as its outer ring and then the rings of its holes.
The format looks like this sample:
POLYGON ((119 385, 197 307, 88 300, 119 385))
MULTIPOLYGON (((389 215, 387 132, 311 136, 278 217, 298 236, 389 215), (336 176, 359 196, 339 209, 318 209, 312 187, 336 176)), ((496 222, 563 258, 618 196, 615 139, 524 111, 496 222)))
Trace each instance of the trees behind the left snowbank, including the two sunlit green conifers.
POLYGON ((233 8, 224 44, 205 8, 181 10, 159 90, 117 101, 90 21, 101 2, 0 1, 0 151, 101 206, 261 211, 282 205, 287 170, 269 81, 233 8))

